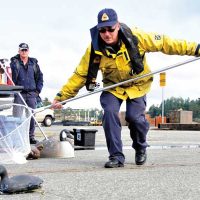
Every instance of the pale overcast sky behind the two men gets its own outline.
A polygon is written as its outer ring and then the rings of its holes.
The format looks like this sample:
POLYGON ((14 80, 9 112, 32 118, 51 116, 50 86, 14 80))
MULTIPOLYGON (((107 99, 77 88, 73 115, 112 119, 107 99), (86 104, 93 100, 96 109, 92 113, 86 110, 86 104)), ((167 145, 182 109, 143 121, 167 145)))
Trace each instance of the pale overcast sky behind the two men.
MULTIPOLYGON (((38 59, 44 73, 41 97, 51 101, 79 63, 90 43, 89 29, 96 25, 97 14, 103 8, 115 9, 119 21, 130 27, 200 43, 198 0, 0 0, 0 3, 0 57, 10 58, 17 54, 19 43, 28 43, 30 56, 38 59)), ((147 55, 152 71, 191 58, 162 53, 147 55)), ((164 97, 200 98, 199 77, 200 61, 167 71, 164 97)), ((98 80, 101 82, 101 76, 98 80)), ((86 92, 83 88, 79 94, 86 92)), ((154 76, 147 98, 148 107, 161 103, 159 75, 154 76)), ((99 94, 66 106, 101 108, 99 94)))

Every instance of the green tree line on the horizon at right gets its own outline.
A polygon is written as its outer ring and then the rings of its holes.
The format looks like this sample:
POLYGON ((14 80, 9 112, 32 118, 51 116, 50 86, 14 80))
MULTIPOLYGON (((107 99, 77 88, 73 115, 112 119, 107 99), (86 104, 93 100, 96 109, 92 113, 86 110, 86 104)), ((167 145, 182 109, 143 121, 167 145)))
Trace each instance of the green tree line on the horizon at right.
MULTIPOLYGON (((193 112, 193 120, 200 121, 200 98, 190 100, 189 98, 183 99, 182 97, 171 97, 164 101, 164 116, 168 117, 170 111, 187 110, 193 112)), ((159 116, 162 114, 162 103, 159 106, 152 105, 148 112, 151 117, 159 116)))

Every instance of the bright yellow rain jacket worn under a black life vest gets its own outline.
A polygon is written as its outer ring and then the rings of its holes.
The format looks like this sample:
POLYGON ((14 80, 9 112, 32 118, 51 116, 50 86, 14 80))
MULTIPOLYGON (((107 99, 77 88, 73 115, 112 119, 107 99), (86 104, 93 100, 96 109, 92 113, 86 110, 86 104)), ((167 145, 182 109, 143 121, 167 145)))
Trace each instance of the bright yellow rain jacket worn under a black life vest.
MULTIPOLYGON (((162 52, 168 55, 200 56, 199 45, 195 42, 171 39, 166 35, 159 35, 155 33, 145 33, 137 28, 132 29, 132 33, 138 38, 140 55, 144 56, 144 70, 138 75, 131 76, 129 74, 131 70, 129 64, 130 59, 125 57, 125 52, 127 52, 127 49, 122 43, 117 54, 111 54, 106 50, 107 54, 111 55, 112 57, 107 57, 105 55, 101 56, 99 68, 102 72, 104 87, 149 73, 150 68, 145 57, 145 53, 148 52, 162 52)), ((62 87, 61 91, 55 97, 56 100, 63 101, 72 98, 76 96, 78 91, 83 86, 85 86, 89 67, 90 52, 91 45, 87 48, 85 55, 82 57, 74 74, 68 79, 67 83, 62 87)), ((138 98, 149 92, 152 81, 152 76, 141 78, 127 85, 110 89, 109 92, 122 100, 126 100, 127 98, 138 98)))

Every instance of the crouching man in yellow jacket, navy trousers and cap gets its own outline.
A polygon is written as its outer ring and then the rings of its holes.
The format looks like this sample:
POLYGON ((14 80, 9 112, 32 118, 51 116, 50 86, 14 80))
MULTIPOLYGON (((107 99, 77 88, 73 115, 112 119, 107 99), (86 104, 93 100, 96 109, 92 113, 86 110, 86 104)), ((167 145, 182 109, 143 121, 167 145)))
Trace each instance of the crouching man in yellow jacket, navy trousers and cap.
MULTIPOLYGON (((113 9, 98 13, 98 24, 91 30, 92 43, 87 48, 74 74, 56 95, 53 107, 61 108, 60 101, 76 96, 86 85, 95 86, 98 69, 103 75, 104 87, 132 79, 150 72, 145 53, 163 52, 168 55, 200 56, 200 45, 195 42, 174 40, 166 35, 145 33, 137 28, 130 29, 120 23, 113 9)), ((146 94, 153 77, 103 91, 100 97, 104 110, 103 127, 106 136, 109 160, 106 168, 123 167, 125 156, 122 151, 119 110, 126 101, 126 121, 135 149, 135 163, 143 165, 147 159, 146 135, 149 124, 145 119, 146 94)))

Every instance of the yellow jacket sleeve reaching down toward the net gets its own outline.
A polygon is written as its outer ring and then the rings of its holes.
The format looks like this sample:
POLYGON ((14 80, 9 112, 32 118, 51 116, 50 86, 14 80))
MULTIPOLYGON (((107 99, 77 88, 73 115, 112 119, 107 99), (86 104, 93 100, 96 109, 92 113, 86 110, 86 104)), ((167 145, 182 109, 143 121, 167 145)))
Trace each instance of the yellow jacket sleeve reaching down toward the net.
POLYGON ((88 73, 91 46, 87 48, 79 65, 73 75, 68 79, 61 91, 56 95, 55 100, 64 101, 77 95, 79 90, 85 85, 88 73))

